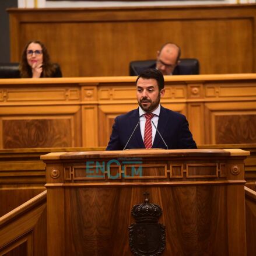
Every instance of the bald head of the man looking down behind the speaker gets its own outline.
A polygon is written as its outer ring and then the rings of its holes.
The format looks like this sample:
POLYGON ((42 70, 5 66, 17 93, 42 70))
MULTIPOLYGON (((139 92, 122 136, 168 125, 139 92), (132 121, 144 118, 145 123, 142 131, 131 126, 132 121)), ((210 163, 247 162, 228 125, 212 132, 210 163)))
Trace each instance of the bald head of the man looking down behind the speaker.
POLYGON ((173 73, 177 65, 178 48, 164 47, 161 52, 157 52, 156 68, 162 72, 163 75, 170 75, 173 73))

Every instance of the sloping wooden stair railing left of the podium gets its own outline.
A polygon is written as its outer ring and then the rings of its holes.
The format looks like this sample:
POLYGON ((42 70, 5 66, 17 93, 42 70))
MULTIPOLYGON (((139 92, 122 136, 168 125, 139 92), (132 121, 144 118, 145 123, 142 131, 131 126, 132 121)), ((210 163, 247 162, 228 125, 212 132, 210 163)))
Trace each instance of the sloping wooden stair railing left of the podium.
POLYGON ((0 255, 47 255, 46 191, 0 218, 0 255))

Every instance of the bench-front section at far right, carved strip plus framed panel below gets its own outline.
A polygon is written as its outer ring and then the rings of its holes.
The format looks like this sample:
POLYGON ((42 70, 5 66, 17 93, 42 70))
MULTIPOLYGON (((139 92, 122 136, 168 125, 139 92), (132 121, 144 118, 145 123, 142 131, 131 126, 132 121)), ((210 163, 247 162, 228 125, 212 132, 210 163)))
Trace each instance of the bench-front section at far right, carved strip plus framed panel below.
POLYGON ((208 129, 205 143, 254 143, 255 83, 206 82, 204 89, 208 129))

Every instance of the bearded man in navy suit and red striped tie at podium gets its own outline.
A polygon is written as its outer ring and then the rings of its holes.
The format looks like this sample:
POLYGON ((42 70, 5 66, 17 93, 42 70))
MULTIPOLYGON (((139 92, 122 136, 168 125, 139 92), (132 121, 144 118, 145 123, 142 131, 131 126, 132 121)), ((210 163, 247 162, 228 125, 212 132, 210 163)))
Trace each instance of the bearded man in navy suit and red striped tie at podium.
POLYGON ((165 92, 160 71, 141 73, 136 90, 139 108, 115 118, 106 150, 197 148, 185 116, 160 106, 165 92))

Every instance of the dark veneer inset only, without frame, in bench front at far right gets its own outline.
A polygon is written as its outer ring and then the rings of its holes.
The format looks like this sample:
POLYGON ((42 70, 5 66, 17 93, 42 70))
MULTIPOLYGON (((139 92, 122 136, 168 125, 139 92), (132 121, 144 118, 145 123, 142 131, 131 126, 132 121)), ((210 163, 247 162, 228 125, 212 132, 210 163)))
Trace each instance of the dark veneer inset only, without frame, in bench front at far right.
POLYGON ((216 115, 216 144, 256 143, 255 115, 216 115))

